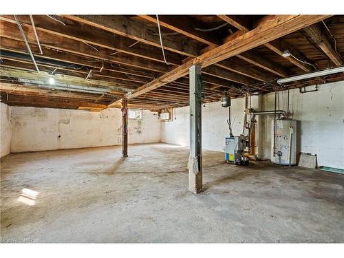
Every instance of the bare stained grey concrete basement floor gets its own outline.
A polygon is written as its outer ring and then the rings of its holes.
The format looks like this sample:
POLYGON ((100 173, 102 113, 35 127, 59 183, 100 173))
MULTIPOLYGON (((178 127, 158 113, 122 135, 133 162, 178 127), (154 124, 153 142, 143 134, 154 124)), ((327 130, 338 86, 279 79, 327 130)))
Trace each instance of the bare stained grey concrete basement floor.
POLYGON ((187 191, 189 150, 170 144, 10 154, 1 160, 1 239, 35 242, 344 242, 344 176, 204 151, 204 191, 187 191), (39 192, 36 200, 22 189, 39 192), (33 203, 34 202, 34 203, 33 203))

